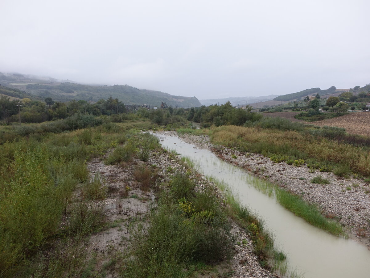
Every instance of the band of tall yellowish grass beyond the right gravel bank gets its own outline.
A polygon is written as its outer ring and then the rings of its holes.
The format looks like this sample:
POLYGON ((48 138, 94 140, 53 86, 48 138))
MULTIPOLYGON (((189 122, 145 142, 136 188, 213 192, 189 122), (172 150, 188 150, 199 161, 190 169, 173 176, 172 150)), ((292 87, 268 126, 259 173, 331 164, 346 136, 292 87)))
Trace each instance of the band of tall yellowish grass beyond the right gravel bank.
POLYGON ((321 163, 347 166, 351 171, 370 176, 369 148, 297 131, 220 126, 211 128, 212 143, 237 148, 243 152, 286 155, 294 160, 308 158, 321 163))

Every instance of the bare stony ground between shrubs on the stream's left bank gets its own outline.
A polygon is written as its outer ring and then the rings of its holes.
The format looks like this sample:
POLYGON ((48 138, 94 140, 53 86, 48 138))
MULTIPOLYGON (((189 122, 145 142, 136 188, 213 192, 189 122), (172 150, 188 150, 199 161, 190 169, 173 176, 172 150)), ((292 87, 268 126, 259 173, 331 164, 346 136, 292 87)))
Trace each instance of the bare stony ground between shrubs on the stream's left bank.
MULTIPOLYGON (((139 166, 148 167, 155 172, 158 184, 168 183, 178 171, 190 171, 189 178, 195 181, 197 191, 212 186, 218 192, 218 198, 224 198, 223 192, 212 182, 195 170, 186 169, 184 163, 171 152, 154 150, 149 153, 147 162, 134 159, 127 165, 105 165, 103 158, 93 159, 88 163, 88 169, 91 176, 99 174, 105 181, 108 198, 102 202, 105 205, 107 222, 111 225, 94 234, 88 243, 90 260, 95 261, 92 272, 105 270, 103 267, 110 264, 108 273, 111 277, 122 274, 119 258, 131 246, 132 241, 129 238, 132 230, 129 226, 138 223, 148 225, 149 208, 156 205, 155 191, 142 190, 142 182, 135 177, 135 169, 139 166)), ((215 267, 201 269, 196 277, 278 277, 260 266, 259 259, 253 252, 252 240, 243 229, 232 223, 231 232, 236 237, 232 258, 215 267)))

